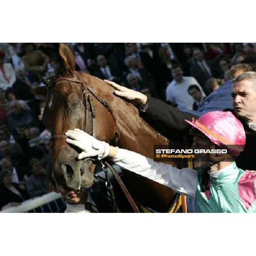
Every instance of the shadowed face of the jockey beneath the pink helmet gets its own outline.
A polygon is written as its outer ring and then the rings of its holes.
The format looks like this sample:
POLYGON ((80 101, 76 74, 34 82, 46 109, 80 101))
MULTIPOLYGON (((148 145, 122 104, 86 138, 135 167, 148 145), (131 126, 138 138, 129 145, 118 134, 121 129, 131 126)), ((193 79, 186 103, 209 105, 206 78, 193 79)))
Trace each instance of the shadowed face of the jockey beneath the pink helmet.
MULTIPOLYGON (((194 136, 191 149, 210 149, 210 141, 207 138, 194 136)), ((204 169, 210 161, 209 153, 195 154, 193 158, 194 169, 204 169)))

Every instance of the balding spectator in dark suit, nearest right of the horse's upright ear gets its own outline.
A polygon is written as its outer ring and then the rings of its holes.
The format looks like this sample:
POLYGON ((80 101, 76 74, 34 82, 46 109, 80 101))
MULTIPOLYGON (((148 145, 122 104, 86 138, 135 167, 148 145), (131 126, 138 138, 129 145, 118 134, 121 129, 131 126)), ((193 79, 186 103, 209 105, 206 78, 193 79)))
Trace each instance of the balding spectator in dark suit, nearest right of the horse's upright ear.
POLYGON ((100 79, 107 79, 114 82, 120 82, 120 70, 117 67, 108 65, 105 56, 97 56, 99 70, 94 73, 100 79))

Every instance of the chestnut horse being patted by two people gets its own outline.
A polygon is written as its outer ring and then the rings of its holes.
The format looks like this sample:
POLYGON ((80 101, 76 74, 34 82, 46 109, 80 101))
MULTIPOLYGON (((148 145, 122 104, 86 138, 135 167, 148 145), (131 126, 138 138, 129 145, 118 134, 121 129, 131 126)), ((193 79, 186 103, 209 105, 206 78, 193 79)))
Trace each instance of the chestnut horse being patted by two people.
MULTIPOLYGON (((154 144, 169 144, 139 116, 134 105, 115 96, 109 84, 76 72, 69 47, 60 44, 59 55, 61 67, 49 79, 43 115, 52 134, 52 177, 56 183, 73 190, 92 186, 92 161, 77 160, 80 152, 67 144, 64 136, 74 128, 87 131, 87 122, 92 122, 90 128, 98 140, 146 157, 153 158, 154 144), (88 109, 92 111, 90 118, 86 116, 88 109)), ((175 197, 172 189, 132 172, 124 171, 122 180, 136 202, 157 212, 166 212, 175 197)))

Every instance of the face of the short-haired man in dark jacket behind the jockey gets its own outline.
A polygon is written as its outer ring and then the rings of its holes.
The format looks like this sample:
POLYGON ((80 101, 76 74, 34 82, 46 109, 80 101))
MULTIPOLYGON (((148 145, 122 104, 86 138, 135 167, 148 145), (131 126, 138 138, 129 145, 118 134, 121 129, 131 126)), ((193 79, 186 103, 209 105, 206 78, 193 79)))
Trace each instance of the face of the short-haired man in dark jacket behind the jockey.
POLYGON ((256 118, 256 90, 252 81, 244 80, 233 85, 233 109, 237 116, 252 121, 256 118))

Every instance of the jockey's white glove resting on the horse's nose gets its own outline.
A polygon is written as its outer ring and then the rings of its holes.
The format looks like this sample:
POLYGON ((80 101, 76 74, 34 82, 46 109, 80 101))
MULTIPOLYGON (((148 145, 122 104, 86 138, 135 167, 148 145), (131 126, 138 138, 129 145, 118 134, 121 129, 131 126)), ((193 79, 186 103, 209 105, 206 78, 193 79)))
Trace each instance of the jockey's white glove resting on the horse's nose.
POLYGON ((79 160, 94 156, 98 156, 99 159, 102 159, 109 154, 110 146, 108 143, 99 141, 80 129, 69 130, 65 135, 73 139, 67 139, 67 143, 70 143, 83 151, 78 155, 79 160))

